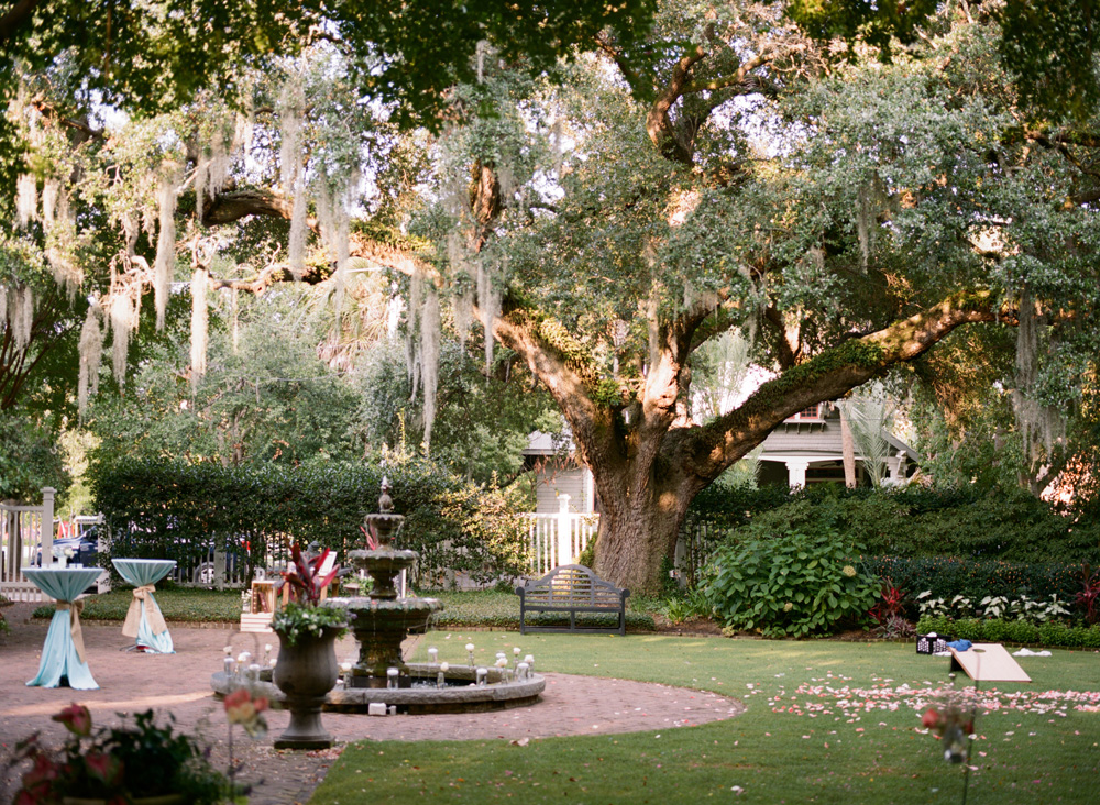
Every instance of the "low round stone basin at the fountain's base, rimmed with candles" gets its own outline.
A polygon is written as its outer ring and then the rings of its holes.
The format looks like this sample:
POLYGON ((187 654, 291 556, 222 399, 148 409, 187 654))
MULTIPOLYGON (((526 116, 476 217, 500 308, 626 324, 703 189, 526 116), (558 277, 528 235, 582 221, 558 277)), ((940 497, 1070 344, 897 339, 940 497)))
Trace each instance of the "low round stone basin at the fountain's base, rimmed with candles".
MULTIPOLYGON (((438 663, 408 663, 409 675, 414 681, 430 682, 439 673, 438 663)), ((531 674, 526 680, 502 681, 498 669, 488 669, 488 684, 473 684, 474 669, 451 665, 447 672, 449 682, 460 681, 459 685, 436 687, 345 687, 343 683, 329 692, 323 709, 331 713, 366 713, 372 704, 385 704, 397 707, 398 713, 408 715, 427 715, 435 713, 484 713, 503 710, 513 707, 528 707, 536 702, 546 688, 546 679, 531 674), (461 682, 466 684, 462 685, 461 682)), ((224 696, 242 683, 235 676, 229 676, 219 671, 210 677, 210 686, 215 694, 224 696)), ((271 682, 258 682, 253 685, 254 695, 267 696, 273 703, 282 703, 283 692, 271 682)))

